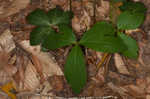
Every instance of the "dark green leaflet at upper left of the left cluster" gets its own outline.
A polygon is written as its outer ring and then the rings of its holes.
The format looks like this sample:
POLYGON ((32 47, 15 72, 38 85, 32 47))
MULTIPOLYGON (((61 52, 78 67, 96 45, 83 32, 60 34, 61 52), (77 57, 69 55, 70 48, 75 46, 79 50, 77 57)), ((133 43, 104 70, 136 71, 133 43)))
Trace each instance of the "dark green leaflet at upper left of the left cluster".
POLYGON ((41 9, 36 9, 33 12, 31 12, 27 16, 27 21, 32 25, 50 26, 47 14, 41 9))

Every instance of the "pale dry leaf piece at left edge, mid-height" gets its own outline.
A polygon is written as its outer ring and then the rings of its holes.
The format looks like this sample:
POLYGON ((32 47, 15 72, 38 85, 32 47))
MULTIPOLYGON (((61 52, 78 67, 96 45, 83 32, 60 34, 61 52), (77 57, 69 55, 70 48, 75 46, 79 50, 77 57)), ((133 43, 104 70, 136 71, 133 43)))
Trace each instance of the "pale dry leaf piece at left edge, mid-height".
POLYGON ((13 36, 10 33, 10 30, 5 30, 0 35, 0 51, 3 49, 5 52, 9 53, 15 48, 15 43, 13 41, 13 36))

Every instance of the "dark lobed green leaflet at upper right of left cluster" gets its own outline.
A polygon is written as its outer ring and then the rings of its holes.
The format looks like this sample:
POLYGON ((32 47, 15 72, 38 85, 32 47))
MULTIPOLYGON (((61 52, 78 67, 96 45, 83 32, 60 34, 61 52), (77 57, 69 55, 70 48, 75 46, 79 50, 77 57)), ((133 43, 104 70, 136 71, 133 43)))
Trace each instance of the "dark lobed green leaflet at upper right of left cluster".
POLYGON ((48 17, 52 25, 69 24, 72 16, 72 12, 64 12, 59 8, 52 9, 48 12, 48 17))

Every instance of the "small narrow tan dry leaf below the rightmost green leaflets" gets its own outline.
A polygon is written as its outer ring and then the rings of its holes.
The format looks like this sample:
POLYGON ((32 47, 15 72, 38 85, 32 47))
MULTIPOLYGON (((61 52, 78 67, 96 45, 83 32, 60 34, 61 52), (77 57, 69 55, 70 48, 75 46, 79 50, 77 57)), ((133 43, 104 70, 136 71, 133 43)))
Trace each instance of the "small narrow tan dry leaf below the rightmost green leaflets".
POLYGON ((126 68, 124 61, 122 60, 122 57, 119 54, 114 55, 114 60, 119 73, 126 74, 126 75, 130 74, 128 69, 126 68))

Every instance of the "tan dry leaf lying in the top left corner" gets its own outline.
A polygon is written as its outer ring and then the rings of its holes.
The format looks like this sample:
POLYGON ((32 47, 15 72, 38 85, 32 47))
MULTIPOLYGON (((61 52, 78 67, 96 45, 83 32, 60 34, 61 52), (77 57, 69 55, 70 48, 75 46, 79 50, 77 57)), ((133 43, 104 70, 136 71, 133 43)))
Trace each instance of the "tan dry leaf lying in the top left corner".
POLYGON ((13 0, 10 5, 0 9, 0 19, 18 13, 20 10, 26 8, 30 0, 13 0))

